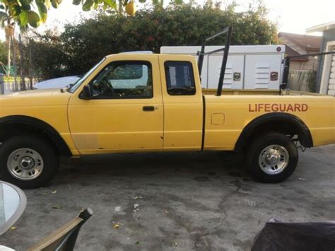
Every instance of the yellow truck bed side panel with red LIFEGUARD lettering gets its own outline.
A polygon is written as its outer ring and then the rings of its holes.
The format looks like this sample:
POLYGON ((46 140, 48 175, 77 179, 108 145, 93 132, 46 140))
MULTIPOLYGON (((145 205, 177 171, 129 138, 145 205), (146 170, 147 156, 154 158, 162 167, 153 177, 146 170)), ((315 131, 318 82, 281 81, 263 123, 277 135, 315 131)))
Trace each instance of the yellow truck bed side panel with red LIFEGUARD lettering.
POLYGON ((247 124, 268 112, 302 119, 314 146, 335 143, 335 98, 330 96, 205 95, 205 102, 205 150, 233 150, 247 124))

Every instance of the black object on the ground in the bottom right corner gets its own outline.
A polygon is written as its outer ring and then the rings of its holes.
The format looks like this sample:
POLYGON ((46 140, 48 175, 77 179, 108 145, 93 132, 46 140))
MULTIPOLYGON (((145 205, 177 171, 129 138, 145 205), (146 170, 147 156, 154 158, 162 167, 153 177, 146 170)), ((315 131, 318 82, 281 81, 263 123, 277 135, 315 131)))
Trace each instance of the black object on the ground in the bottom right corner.
POLYGON ((268 221, 254 238, 252 251, 334 251, 335 221, 281 222, 268 221))

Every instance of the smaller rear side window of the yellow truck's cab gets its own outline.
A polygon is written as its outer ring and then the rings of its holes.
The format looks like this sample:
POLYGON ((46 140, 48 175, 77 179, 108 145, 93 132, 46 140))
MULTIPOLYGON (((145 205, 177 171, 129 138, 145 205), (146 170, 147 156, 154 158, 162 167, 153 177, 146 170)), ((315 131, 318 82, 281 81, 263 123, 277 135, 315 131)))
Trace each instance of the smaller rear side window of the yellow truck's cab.
POLYGON ((169 95, 194 95, 196 93, 190 62, 165 62, 165 76, 169 95))

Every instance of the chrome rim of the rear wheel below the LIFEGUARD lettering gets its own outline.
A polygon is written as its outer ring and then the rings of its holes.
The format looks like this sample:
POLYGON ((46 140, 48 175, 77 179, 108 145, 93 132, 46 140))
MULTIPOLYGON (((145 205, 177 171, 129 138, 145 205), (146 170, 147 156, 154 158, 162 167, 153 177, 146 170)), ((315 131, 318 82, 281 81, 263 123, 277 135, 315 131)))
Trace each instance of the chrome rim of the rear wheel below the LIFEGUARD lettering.
POLYGON ((288 166, 289 155, 285 147, 266 146, 259 154, 259 167, 268 175, 278 175, 288 166))

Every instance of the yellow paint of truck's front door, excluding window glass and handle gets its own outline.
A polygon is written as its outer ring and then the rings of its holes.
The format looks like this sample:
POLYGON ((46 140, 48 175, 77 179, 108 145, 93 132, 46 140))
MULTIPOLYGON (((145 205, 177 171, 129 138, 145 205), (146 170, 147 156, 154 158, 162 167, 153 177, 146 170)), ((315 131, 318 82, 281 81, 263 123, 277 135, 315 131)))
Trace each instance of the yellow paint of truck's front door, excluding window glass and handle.
MULTIPOLYGON (((81 88, 112 61, 134 59, 117 54, 108 57, 69 100, 69 126, 74 144, 82 154, 117 151, 153 151, 163 149, 163 99, 160 87, 158 56, 143 54, 151 63, 153 98, 82 100, 81 88), (143 106, 154 106, 143 112, 143 106)), ((139 56, 135 57, 139 59, 139 56)))

